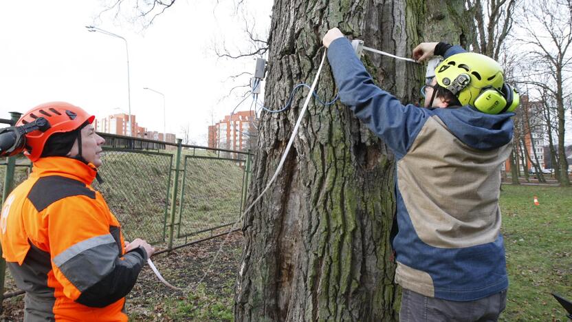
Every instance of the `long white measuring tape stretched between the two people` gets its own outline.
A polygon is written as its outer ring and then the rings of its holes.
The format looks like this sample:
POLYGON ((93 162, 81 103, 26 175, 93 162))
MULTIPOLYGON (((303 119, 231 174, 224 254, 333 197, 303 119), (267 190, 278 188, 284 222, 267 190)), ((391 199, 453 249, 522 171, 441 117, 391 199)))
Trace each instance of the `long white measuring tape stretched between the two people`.
MULTIPOLYGON (((360 40, 358 40, 360 41, 360 40)), ((352 46, 354 44, 355 41, 352 41, 352 46)), ((391 56, 393 58, 396 59, 401 59, 404 61, 410 61, 412 63, 417 63, 417 61, 415 61, 414 59, 410 59, 410 58, 404 58, 404 57, 399 57, 399 56, 395 56, 392 54, 388 54, 386 52, 382 52, 380 50, 374 50, 372 48, 369 47, 364 47, 363 41, 361 42, 361 48, 362 50, 370 50, 371 52, 376 52, 377 54, 382 54, 382 55, 386 55, 386 56, 391 56)), ((356 45, 358 45, 358 43, 356 43, 356 45)), ((354 50, 356 50, 356 47, 354 47, 354 50)), ((360 52, 361 53, 361 52, 360 52)), ((324 51, 324 54, 322 55, 322 61, 320 62, 320 67, 318 67, 318 72, 316 72, 316 77, 314 78, 314 82, 312 83, 311 87, 310 87, 310 91, 308 93, 308 96, 306 97, 306 100, 304 102, 304 105, 302 107, 302 111, 300 111, 300 115, 298 116, 298 120, 296 120, 296 125, 294 125, 294 130, 292 131, 292 136, 290 136, 290 139, 288 141, 288 144, 286 145, 286 149, 282 155, 282 158, 280 160, 280 162, 278 163, 278 167, 276 168, 276 171, 274 172, 274 175, 272 175, 272 178, 270 179, 270 181, 268 182, 268 184, 266 185, 266 187, 264 188, 264 190, 260 193, 260 195, 258 197, 256 197, 256 200, 254 200, 254 202, 252 202, 252 204, 250 204, 250 206, 248 206, 248 208, 246 208, 245 211, 243 211, 243 213, 241 214, 241 217, 239 217, 239 219, 234 222, 234 224, 232 225, 232 227, 230 228, 230 230, 228 231, 228 234, 226 235, 225 239, 223 240, 223 243, 221 244, 221 247, 219 248, 219 250, 217 251, 217 254, 214 255, 214 258, 216 259, 217 257, 219 257, 219 254, 221 253, 223 246, 226 242, 226 240, 228 239, 228 237, 230 236, 230 232, 232 230, 234 230, 234 227, 236 226, 236 224, 238 224, 241 220, 241 218, 243 216, 246 215, 246 213, 248 213, 248 211, 250 211, 250 209, 254 206, 254 204, 256 204, 257 202, 259 202, 262 198, 262 196, 266 193, 266 191, 268 191, 268 189, 270 189, 270 186, 272 186, 272 184, 274 183, 274 180, 276 180, 276 178, 278 178, 278 173, 280 173, 280 171, 282 170, 282 167, 284 166, 284 162, 286 160, 286 157, 290 151, 290 148, 292 148, 292 143, 294 142, 294 138, 296 138, 296 133, 298 133, 298 128, 300 127, 300 123, 302 122, 302 119, 304 118, 304 114, 306 113, 307 109, 308 109, 308 104, 310 103, 310 99, 312 97, 312 93, 314 93, 314 89, 316 88, 316 84, 318 83, 318 78, 320 78, 320 73, 322 72, 322 66, 324 65, 324 61, 326 58, 326 54, 327 54, 327 50, 324 51)), ((356 51, 356 54, 358 54, 358 52, 356 51)), ((358 57, 360 56, 360 54, 358 54, 358 57)), ((214 260, 210 263, 210 266, 208 267, 208 269, 206 270, 206 272, 208 272, 210 270, 210 268, 212 267, 212 264, 214 263, 214 260)), ((161 273, 159 272, 159 270, 157 270, 157 268, 155 267, 155 265, 153 264, 153 261, 151 261, 151 259, 147 259, 147 264, 149 264, 149 266, 151 267, 151 270, 153 270, 153 272, 155 272, 155 275, 157 275, 157 278, 162 281, 162 283, 164 283, 166 286, 168 286, 169 288, 173 288, 173 290, 186 290, 187 288, 177 288, 176 286, 171 285, 170 283, 168 283, 168 281, 166 281, 161 273)), ((201 279, 197 282, 197 285, 199 285, 203 279, 206 277, 208 273, 205 273, 205 275, 203 275, 203 277, 201 277, 201 279)))

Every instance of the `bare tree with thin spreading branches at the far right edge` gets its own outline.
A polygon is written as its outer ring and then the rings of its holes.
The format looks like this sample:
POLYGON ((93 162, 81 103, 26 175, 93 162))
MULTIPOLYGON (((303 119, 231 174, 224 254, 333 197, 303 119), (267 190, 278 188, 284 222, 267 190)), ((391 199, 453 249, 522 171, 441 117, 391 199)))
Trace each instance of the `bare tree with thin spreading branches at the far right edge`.
POLYGON ((571 95, 570 77, 572 54, 572 1, 547 0, 538 6, 537 1, 527 1, 523 6, 524 15, 518 24, 526 34, 520 42, 531 47, 527 55, 530 63, 524 75, 527 83, 536 85, 554 97, 558 118, 558 158, 563 186, 569 186, 568 164, 564 152, 565 106, 564 100, 571 95), (548 81, 536 81, 534 76, 547 74, 548 81))

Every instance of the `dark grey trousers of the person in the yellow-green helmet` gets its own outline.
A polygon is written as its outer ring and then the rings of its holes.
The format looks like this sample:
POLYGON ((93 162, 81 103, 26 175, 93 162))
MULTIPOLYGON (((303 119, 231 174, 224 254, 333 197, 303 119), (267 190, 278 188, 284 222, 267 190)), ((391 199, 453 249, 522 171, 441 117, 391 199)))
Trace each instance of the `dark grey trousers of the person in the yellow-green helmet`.
POLYGON ((498 315, 505 310, 506 305, 506 290, 476 301, 456 302, 426 297, 404 289, 401 295, 399 321, 497 321, 498 315))

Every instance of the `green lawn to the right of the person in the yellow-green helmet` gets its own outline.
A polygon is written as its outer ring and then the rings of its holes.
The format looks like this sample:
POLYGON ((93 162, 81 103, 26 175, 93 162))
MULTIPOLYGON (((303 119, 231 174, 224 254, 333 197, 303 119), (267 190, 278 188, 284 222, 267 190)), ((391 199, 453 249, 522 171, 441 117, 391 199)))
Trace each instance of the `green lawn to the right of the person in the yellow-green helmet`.
POLYGON ((566 321, 550 293, 572 299, 572 188, 503 185, 500 207, 509 273, 501 319, 566 321))

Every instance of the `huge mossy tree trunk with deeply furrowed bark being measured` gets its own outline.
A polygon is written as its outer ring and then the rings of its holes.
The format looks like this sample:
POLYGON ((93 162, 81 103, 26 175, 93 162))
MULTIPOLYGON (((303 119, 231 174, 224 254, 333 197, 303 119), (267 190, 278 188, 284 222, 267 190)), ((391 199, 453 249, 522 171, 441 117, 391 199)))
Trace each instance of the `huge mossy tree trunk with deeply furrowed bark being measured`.
MULTIPOLYGON (((462 24, 452 17, 462 15, 461 0, 275 0, 265 106, 279 109, 296 84, 311 83, 329 28, 410 56, 422 40, 459 43, 462 24)), ((363 61, 384 89, 419 100, 424 66, 377 54, 363 61)), ((336 96, 329 67, 317 88, 322 100, 336 96)), ((272 178, 306 95, 283 113, 261 115, 250 202, 272 178)), ((396 321, 394 165, 347 107, 312 100, 283 171, 245 215, 236 321, 396 321)))

